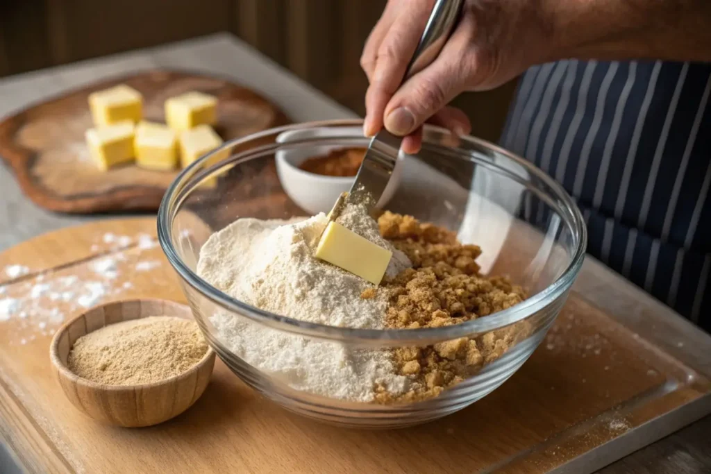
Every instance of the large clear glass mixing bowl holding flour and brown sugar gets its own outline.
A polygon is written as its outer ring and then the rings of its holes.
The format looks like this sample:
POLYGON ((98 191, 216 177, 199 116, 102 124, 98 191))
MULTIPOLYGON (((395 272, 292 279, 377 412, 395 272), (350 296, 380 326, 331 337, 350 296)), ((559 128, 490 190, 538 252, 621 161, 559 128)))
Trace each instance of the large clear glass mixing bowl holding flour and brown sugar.
POLYGON ((434 222, 456 231, 461 242, 479 244, 481 273, 510 276, 528 290, 530 296, 523 303, 441 328, 341 328, 262 311, 198 276, 205 241, 237 218, 288 219, 328 210, 336 178, 305 173, 297 165, 332 149, 367 146, 361 125, 353 120, 296 124, 226 143, 172 183, 159 210, 159 239, 205 338, 245 383, 284 408, 321 421, 407 426, 476 402, 523 365, 565 303, 582 266, 587 237, 576 205, 545 173, 486 141, 427 126, 422 152, 400 156, 385 209, 434 222), (312 199, 321 195, 327 198, 312 199), (250 365, 245 360, 249 357, 225 337, 225 321, 239 323, 232 328, 272 331, 284 340, 339 345, 344 350, 432 348, 470 338, 480 346, 503 341, 501 350, 506 352, 432 399, 351 402, 295 389, 288 377, 262 370, 256 362, 250 365))

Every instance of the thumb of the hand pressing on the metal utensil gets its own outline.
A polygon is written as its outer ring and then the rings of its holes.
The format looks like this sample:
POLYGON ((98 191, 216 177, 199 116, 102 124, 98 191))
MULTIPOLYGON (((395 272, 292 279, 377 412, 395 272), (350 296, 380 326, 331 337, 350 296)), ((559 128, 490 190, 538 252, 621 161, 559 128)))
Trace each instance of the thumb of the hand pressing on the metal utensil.
POLYGON ((411 134, 464 90, 462 68, 440 56, 410 77, 385 107, 384 125, 397 136, 411 134))

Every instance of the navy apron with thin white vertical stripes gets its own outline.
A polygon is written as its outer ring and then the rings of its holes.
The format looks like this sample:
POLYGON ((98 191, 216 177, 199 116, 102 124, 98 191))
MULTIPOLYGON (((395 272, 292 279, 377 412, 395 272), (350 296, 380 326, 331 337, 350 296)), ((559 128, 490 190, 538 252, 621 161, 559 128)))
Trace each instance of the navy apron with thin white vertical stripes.
POLYGON ((711 330, 711 64, 566 60, 521 78, 501 145, 577 201, 588 252, 711 330))

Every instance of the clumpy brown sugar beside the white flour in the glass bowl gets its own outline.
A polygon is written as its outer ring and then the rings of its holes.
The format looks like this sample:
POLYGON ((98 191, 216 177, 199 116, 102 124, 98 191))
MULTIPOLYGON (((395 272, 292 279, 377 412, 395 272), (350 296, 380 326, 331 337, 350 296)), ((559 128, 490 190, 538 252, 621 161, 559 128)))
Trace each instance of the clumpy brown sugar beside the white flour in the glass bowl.
MULTIPOLYGON (((481 249, 459 243, 454 232, 392 212, 381 215, 378 224, 380 234, 412 261, 412 268, 383 285, 390 298, 388 328, 454 325, 502 311, 526 298, 525 291, 508 278, 479 274, 475 260, 481 249)), ((368 297, 365 291, 361 297, 368 297)), ((530 323, 521 321, 476 338, 397 348, 393 350, 395 366, 400 375, 410 378, 412 389, 393 397, 384 387, 376 387, 375 399, 392 403, 437 397, 501 357, 529 333, 530 323)))

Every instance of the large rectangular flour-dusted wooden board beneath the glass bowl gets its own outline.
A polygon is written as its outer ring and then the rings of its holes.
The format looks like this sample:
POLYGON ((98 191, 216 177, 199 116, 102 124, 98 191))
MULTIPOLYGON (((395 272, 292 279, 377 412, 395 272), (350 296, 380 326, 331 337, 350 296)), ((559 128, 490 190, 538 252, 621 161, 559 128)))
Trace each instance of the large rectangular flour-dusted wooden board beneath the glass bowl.
MULTIPOLYGON (((155 228, 151 218, 95 222, 9 249, 0 269, 20 264, 28 273, 0 281, 0 301, 26 301, 38 284, 72 276, 81 289, 102 280, 97 268, 114 259, 100 302, 184 302, 176 274, 151 244, 155 228)), ((439 421, 394 431, 327 426, 263 399, 218 361, 186 413, 119 429, 87 419, 65 399, 48 357, 62 318, 48 323, 43 311, 69 318, 80 308, 74 299, 43 298, 23 303, 23 317, 0 319, 0 441, 32 473, 585 473, 711 410, 706 377, 572 292, 508 382, 439 421)))

